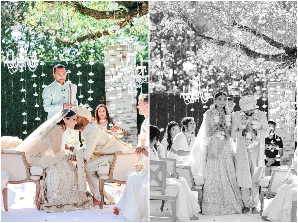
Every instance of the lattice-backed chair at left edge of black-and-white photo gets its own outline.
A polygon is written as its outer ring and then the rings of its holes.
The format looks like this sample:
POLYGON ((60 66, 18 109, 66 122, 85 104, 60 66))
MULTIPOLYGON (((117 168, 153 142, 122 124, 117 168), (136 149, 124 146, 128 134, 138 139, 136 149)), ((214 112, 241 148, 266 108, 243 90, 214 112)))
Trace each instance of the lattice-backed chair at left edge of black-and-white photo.
POLYGON ((150 160, 150 200, 170 201, 172 208, 172 220, 173 222, 176 222, 176 199, 178 195, 178 188, 176 186, 166 186, 167 165, 169 163, 170 161, 150 160))

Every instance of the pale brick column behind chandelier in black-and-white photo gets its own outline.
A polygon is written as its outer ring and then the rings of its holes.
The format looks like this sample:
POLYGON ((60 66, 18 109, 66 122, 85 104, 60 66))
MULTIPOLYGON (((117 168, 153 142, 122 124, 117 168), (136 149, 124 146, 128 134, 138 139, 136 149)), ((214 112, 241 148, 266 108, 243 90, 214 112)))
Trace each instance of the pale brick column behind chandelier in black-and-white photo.
MULTIPOLYGON (((285 82, 270 82, 268 85, 268 120, 273 119, 275 121, 275 117, 270 114, 270 111, 272 110, 271 102, 274 102, 275 100, 280 100, 280 95, 277 94, 277 86, 281 86, 281 88, 285 89, 285 82), (273 90, 270 90, 270 87, 274 87, 273 90), (270 95, 274 95, 271 97, 270 95)), ((295 83, 292 83, 292 88, 290 89, 293 92, 293 101, 295 101, 295 83)), ((280 165, 288 165, 291 166, 292 164, 292 158, 294 156, 295 151, 295 140, 294 140, 294 128, 295 128, 295 121, 293 121, 292 126, 290 126, 288 132, 288 125, 285 124, 285 120, 279 121, 280 128, 275 128, 274 133, 283 140, 283 156, 280 159, 280 165)))

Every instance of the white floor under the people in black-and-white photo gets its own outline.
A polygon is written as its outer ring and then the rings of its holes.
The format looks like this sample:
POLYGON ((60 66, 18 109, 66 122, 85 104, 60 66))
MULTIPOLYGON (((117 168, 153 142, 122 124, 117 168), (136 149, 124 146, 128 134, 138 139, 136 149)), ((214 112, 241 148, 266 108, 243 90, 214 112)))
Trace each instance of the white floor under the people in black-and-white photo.
MULTIPOLYGON (((198 192, 193 192, 195 197, 198 196, 198 192)), ((264 210, 268 207, 270 202, 273 199, 264 199, 264 210)), ((172 222, 172 216, 168 210, 171 208, 170 202, 166 201, 164 204, 164 209, 161 212, 160 206, 162 201, 160 200, 150 200, 150 222, 172 222)), ((260 210, 260 202, 258 205, 258 209, 260 210)), ((191 222, 263 222, 259 214, 252 214, 252 210, 250 210, 247 214, 231 214, 231 215, 202 215, 198 214, 198 221, 191 222)), ((177 222, 181 222, 178 219, 177 222)))

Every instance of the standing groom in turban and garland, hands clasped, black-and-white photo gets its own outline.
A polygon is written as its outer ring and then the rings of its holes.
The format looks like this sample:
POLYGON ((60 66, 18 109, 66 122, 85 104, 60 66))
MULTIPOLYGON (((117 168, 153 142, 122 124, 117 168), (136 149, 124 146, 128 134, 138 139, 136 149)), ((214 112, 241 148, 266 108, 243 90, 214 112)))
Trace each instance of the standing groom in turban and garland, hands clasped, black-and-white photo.
POLYGON ((231 136, 237 139, 235 169, 244 202, 242 213, 249 212, 250 208, 252 213, 259 213, 259 185, 256 183, 265 175, 264 148, 265 138, 269 136, 269 125, 265 112, 255 109, 256 105, 257 99, 252 95, 240 98, 241 110, 234 113, 231 125, 231 136), (257 119, 257 123, 252 123, 253 119, 257 119), (245 120, 249 121, 246 125, 245 120), (244 137, 252 134, 257 135, 258 144, 248 149, 244 137))

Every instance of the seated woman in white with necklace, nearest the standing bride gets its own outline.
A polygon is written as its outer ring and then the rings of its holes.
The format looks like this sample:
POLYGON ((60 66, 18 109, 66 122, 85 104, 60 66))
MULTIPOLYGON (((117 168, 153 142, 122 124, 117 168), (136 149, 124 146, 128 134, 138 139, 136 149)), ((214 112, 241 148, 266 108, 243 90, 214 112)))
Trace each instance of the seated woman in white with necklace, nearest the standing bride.
POLYGON ((178 133, 173 140, 172 147, 167 158, 175 158, 178 164, 185 161, 190 155, 190 150, 195 142, 195 120, 193 117, 185 117, 181 121, 182 132, 178 133))

